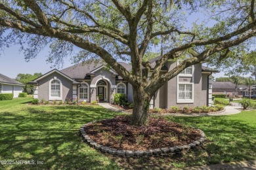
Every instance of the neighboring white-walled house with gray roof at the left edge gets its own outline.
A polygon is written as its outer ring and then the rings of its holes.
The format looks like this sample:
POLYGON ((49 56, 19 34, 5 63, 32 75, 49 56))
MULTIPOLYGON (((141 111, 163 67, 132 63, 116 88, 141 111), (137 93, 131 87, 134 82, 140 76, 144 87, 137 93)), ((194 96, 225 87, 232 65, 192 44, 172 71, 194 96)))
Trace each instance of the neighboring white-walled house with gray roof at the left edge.
POLYGON ((0 73, 0 93, 13 93, 13 97, 18 97, 18 94, 22 93, 23 86, 25 85, 21 82, 0 73))

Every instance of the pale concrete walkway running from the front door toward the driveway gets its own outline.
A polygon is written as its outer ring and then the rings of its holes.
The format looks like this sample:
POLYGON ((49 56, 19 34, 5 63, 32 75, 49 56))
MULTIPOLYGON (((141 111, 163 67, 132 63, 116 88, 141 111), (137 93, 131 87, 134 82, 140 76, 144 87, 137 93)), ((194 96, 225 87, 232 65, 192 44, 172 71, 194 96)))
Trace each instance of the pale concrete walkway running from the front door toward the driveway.
MULTIPOLYGON (((106 109, 112 110, 114 112, 127 112, 125 110, 121 110, 116 107, 113 107, 112 105, 110 105, 110 103, 98 103, 98 105, 100 105, 106 109)), ((162 115, 162 116, 165 116, 165 115, 170 115, 170 116, 225 116, 225 115, 240 113, 241 111, 238 110, 240 108, 241 108, 240 106, 239 107, 226 106, 224 112, 220 112, 220 113, 216 113, 216 114, 213 113, 213 114, 159 114, 159 115, 162 115)))

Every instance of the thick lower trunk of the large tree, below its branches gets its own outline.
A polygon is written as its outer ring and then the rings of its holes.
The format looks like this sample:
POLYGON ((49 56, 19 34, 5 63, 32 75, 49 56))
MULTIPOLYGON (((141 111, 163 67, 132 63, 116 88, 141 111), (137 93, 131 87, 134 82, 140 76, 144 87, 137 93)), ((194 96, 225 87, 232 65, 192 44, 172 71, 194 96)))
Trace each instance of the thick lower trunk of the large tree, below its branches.
POLYGON ((133 125, 148 124, 150 99, 151 97, 144 92, 143 88, 133 88, 133 125))

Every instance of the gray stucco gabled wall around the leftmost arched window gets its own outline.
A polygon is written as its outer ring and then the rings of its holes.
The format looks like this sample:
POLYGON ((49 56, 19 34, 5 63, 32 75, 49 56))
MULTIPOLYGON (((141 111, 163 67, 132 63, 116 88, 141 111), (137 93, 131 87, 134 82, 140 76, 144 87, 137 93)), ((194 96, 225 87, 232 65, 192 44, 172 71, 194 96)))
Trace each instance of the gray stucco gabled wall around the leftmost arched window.
POLYGON ((38 99, 49 100, 49 82, 56 76, 62 82, 62 101, 65 101, 66 97, 73 98, 73 86, 72 81, 66 77, 54 72, 45 78, 38 80, 38 99))

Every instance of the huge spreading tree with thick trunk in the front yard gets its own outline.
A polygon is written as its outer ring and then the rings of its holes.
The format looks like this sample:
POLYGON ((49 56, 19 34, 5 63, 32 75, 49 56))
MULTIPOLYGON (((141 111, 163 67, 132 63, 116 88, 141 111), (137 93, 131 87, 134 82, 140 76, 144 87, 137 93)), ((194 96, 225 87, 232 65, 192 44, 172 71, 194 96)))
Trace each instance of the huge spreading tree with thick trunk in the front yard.
POLYGON ((104 59, 133 86, 132 122, 137 126, 148 122, 150 99, 165 82, 205 59, 236 58, 232 54, 255 43, 256 33, 255 0, 2 0, 0 17, 0 46, 21 44, 26 59, 49 43, 49 61, 55 64, 74 46, 81 49, 76 61, 104 59), (187 22, 198 12, 205 12, 201 21, 187 22), (161 58, 153 69, 144 54, 160 44, 161 58), (197 53, 160 74, 168 60, 177 61, 189 50, 197 53), (132 73, 117 59, 131 61, 132 73))

